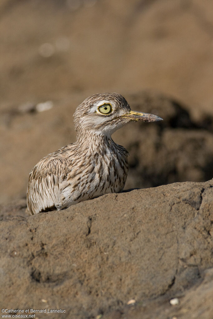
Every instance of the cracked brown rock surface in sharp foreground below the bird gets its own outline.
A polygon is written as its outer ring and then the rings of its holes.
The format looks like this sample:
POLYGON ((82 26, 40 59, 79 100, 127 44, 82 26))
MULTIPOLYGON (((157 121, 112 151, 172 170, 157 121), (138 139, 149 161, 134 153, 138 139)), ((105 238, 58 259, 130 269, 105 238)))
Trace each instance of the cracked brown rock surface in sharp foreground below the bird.
POLYGON ((1 308, 66 310, 48 318, 212 318, 212 187, 174 183, 30 217, 25 202, 3 209, 1 308))

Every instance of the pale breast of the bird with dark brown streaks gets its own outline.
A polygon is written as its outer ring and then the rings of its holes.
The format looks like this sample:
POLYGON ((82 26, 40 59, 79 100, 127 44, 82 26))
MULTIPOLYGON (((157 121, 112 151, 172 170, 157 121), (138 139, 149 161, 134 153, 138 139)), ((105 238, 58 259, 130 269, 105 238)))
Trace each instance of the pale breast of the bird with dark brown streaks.
POLYGON ((87 152, 72 162, 62 191, 63 197, 66 200, 69 198, 70 205, 104 194, 118 193, 125 185, 127 173, 127 152, 122 149, 105 148, 104 152, 87 152))

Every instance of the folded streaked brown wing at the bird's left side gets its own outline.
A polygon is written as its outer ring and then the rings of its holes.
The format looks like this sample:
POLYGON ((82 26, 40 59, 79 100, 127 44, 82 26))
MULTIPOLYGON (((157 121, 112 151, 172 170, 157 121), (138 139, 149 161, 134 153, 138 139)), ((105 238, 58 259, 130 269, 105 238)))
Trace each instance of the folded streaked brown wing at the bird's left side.
POLYGON ((70 170, 64 158, 43 159, 30 172, 27 188, 27 207, 30 215, 41 211, 60 210, 60 185, 66 184, 70 170))

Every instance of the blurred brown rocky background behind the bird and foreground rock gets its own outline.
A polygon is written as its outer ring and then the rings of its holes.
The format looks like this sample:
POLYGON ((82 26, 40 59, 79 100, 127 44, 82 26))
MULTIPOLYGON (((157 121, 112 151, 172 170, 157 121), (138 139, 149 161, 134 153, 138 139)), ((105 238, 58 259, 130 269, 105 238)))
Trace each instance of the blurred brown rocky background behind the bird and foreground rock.
POLYGON ((212 0, 1 0, 0 202, 75 141, 76 106, 100 92, 164 118, 114 134, 126 188, 212 178, 212 16, 212 0))

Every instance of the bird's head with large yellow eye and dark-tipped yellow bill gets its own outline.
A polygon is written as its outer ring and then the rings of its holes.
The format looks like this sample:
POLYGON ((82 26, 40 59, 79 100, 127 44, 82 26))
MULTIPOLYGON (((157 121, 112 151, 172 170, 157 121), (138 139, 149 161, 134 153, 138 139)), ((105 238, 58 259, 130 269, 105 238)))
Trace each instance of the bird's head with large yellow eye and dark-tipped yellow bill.
POLYGON ((76 108, 73 116, 77 134, 89 131, 108 137, 131 121, 162 120, 153 114, 132 111, 125 98, 118 93, 99 93, 89 96, 76 108))

